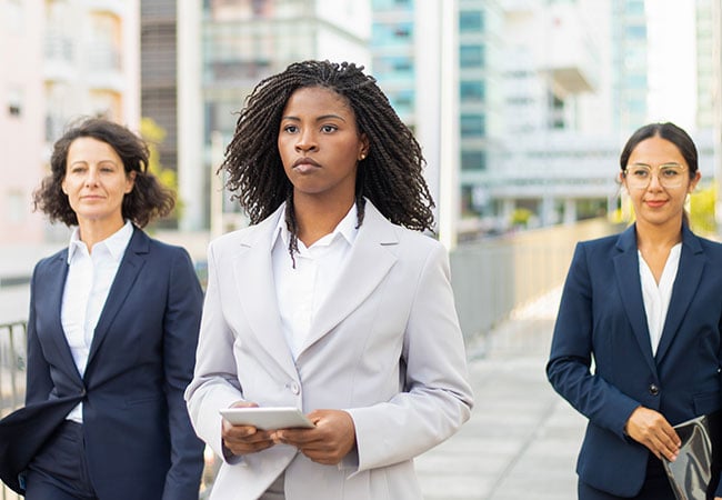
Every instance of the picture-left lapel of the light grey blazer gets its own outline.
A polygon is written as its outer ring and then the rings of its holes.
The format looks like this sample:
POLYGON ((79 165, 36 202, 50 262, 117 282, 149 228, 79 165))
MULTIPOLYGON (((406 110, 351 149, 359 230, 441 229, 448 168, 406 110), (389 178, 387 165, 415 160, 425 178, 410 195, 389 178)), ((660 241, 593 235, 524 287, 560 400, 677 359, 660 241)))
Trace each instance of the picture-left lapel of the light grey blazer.
POLYGON ((275 359, 293 379, 298 378, 291 350, 285 342, 281 327, 281 312, 273 280, 271 238, 274 234, 280 210, 254 227, 241 241, 233 262, 238 303, 242 308, 249 327, 259 338, 260 344, 275 359))

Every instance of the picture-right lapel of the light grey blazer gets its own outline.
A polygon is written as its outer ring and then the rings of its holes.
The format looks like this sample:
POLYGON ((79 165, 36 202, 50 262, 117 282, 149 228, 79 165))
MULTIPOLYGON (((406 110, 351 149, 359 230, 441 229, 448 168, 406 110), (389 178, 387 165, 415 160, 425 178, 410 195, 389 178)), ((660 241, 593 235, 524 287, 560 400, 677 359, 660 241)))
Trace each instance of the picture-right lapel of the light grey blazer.
POLYGON ((301 352, 331 331, 373 292, 397 261, 395 253, 390 250, 397 244, 399 237, 393 224, 367 200, 365 217, 353 248, 311 323, 301 352))

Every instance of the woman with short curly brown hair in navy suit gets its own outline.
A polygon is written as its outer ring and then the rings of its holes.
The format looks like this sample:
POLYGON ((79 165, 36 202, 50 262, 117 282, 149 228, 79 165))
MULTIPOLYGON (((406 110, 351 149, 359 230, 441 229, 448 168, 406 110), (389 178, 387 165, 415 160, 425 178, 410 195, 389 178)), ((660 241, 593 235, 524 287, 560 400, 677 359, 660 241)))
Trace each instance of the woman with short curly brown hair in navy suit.
POLYGON ((202 290, 185 250, 140 229, 173 207, 148 158, 126 127, 83 120, 34 194, 78 228, 36 267, 26 407, 0 422, 3 480, 29 500, 198 500, 203 444, 183 390, 202 290))

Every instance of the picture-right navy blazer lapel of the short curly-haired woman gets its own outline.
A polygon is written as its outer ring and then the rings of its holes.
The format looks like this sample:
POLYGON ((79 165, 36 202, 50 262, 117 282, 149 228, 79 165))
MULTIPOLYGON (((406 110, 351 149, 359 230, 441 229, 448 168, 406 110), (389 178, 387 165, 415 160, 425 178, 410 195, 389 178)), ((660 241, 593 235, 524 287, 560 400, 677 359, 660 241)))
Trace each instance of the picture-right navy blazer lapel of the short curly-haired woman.
MULTIPOLYGON (((113 284, 110 287, 110 291, 108 292, 108 299, 106 300, 103 310, 98 319, 98 324, 96 326, 93 339, 90 343, 90 352, 88 354, 88 366, 90 366, 98 349, 100 349, 100 346, 108 334, 110 326, 122 308, 136 279, 146 264, 146 256, 149 248, 150 241, 148 236, 140 229, 133 228, 133 236, 128 243, 128 248, 126 249, 123 259, 118 268, 118 273, 116 274, 113 284)), ((86 370, 86 372, 88 372, 88 370, 86 370)))

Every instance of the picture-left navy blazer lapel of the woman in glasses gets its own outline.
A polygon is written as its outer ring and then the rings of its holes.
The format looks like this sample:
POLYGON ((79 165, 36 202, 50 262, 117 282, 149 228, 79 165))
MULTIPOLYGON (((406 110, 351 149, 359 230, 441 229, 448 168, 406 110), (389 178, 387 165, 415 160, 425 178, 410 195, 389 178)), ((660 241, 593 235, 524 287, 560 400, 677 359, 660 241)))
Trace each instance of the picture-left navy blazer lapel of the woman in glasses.
POLYGON ((644 361, 655 372, 656 364, 652 357, 652 344, 646 326, 646 314, 644 313, 644 299, 642 298, 634 224, 620 234, 616 240, 616 250, 619 253, 613 258, 614 273, 616 276, 616 284, 622 304, 632 326, 636 342, 643 353, 644 361))

